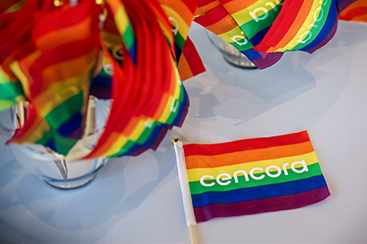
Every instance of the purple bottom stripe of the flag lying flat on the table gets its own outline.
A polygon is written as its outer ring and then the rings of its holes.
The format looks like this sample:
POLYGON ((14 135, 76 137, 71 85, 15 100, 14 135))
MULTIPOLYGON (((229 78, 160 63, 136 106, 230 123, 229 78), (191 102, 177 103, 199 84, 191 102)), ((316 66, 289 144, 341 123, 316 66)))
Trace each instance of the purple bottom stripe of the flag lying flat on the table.
POLYGON ((218 217, 230 217, 301 208, 303 206, 322 201, 329 197, 329 195, 329 189, 327 188, 327 185, 325 185, 322 188, 317 188, 315 190, 281 197, 240 201, 234 204, 209 204, 207 206, 194 208, 194 213, 197 222, 205 222, 218 217))

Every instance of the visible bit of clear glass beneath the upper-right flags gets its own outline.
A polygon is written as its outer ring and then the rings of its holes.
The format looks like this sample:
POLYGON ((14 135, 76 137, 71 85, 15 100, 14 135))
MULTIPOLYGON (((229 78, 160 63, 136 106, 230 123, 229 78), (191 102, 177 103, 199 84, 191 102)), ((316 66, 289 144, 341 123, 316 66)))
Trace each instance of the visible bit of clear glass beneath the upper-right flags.
POLYGON ((247 56, 241 54, 241 52, 230 45, 230 43, 227 43, 225 40, 223 40, 219 36, 216 36, 210 31, 205 32, 207 33, 207 36, 214 47, 216 47, 216 49, 218 49, 223 54, 223 58, 225 59, 225 61, 230 63, 232 66, 245 70, 257 69, 255 64, 253 64, 253 62, 251 62, 250 59, 247 58, 247 56))

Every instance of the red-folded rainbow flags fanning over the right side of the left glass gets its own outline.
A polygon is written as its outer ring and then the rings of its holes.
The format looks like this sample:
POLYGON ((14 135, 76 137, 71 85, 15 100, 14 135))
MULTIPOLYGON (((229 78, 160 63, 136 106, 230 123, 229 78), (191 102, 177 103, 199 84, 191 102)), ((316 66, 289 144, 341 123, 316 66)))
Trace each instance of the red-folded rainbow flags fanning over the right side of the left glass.
POLYGON ((113 62, 110 117, 87 158, 135 155, 156 148, 167 129, 181 125, 188 111, 177 56, 184 47, 196 2, 123 4, 135 35, 135 55, 124 56, 122 66, 113 62))

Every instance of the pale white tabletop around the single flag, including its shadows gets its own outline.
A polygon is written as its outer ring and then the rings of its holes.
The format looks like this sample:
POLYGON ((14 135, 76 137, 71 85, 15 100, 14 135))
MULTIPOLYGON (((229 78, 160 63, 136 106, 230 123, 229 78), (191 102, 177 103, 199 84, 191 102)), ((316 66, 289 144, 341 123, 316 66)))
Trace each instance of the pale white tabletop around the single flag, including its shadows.
POLYGON ((89 185, 57 190, 0 146, 0 243, 188 243, 172 139, 216 143, 308 130, 331 196, 290 211, 197 224, 199 243, 367 243, 367 24, 340 22, 314 54, 267 70, 223 61, 195 24, 207 72, 157 151, 110 160, 89 185))

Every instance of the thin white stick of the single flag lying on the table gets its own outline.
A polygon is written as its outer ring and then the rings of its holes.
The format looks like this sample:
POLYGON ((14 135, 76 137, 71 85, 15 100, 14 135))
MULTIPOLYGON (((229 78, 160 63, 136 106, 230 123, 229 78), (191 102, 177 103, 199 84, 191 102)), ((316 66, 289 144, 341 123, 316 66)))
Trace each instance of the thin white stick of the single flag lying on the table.
POLYGON ((181 196, 182 202, 184 204, 186 224, 188 227, 188 232, 190 234, 190 242, 191 244, 196 244, 197 241, 194 229, 196 225, 196 220, 193 209, 193 201, 191 200, 190 188, 188 185, 184 147, 182 146, 182 142, 178 138, 174 139, 172 143, 174 146, 174 152, 176 153, 177 171, 179 173, 181 196))

